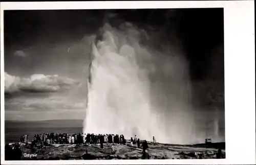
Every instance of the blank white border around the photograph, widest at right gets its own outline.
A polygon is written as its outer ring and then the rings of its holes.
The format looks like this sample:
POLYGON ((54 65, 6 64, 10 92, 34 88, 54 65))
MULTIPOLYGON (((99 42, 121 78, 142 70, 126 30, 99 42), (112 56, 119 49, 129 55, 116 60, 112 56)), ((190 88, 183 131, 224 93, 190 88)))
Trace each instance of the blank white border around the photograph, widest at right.
POLYGON ((1 2, 1 164, 256 164, 254 1, 1 2), (224 8, 225 159, 5 161, 4 10, 224 8))

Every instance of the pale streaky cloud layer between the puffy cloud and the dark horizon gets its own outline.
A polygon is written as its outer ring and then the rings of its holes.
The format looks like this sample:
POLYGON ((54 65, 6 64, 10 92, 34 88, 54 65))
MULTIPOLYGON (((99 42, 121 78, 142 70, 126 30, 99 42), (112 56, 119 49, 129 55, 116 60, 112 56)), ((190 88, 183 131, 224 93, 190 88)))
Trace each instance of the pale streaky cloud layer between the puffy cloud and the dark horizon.
POLYGON ((5 114, 8 120, 31 120, 32 113, 38 114, 33 120, 49 119, 72 119, 74 113, 80 113, 80 119, 83 119, 86 102, 82 100, 71 100, 67 95, 51 93, 51 95, 31 95, 32 93, 23 93, 19 97, 5 100, 5 114), (20 115, 22 114, 22 115, 20 115), (58 114, 62 114, 60 117, 58 114))

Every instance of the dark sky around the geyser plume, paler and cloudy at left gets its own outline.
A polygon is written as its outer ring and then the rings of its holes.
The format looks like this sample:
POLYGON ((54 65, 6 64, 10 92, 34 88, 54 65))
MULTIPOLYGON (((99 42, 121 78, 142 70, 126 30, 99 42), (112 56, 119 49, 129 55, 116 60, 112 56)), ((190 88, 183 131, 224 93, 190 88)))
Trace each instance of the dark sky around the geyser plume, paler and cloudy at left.
POLYGON ((141 28, 161 27, 170 32, 164 33, 166 42, 175 42, 175 34, 189 62, 192 81, 224 80, 223 9, 4 11, 4 58, 9 84, 22 82, 26 91, 40 91, 6 100, 6 119, 84 118, 81 114, 87 93, 81 87, 86 84, 90 63, 90 44, 85 36, 98 31, 106 13, 112 15, 109 21, 113 25, 126 20, 141 28), (44 81, 35 84, 38 78, 44 81), (42 87, 40 83, 47 85, 42 87), (28 90, 28 84, 33 85, 33 90, 28 90), (63 90, 41 92, 59 88, 63 90))

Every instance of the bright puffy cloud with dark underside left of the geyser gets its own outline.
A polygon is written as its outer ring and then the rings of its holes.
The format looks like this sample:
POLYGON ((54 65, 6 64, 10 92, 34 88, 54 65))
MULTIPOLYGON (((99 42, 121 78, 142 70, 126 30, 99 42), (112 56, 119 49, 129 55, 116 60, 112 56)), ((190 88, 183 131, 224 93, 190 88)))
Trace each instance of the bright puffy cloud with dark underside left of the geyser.
POLYGON ((58 75, 35 74, 29 78, 19 78, 5 73, 5 92, 56 92, 59 89, 69 89, 69 86, 78 84, 77 81, 58 75))

